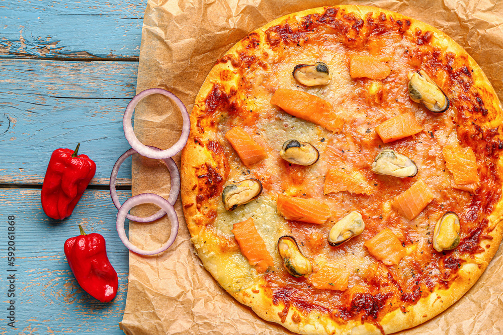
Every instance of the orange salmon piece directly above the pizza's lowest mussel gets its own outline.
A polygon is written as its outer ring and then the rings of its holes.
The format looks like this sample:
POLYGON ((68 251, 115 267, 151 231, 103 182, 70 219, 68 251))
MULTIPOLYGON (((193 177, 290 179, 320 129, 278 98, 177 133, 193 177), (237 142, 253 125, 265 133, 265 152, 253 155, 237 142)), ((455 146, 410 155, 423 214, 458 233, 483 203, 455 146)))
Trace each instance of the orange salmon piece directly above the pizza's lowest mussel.
POLYGON ((283 194, 278 195, 277 208, 278 212, 287 220, 309 222, 310 224, 324 224, 331 215, 329 207, 323 202, 283 194))

